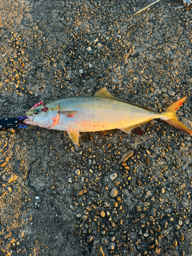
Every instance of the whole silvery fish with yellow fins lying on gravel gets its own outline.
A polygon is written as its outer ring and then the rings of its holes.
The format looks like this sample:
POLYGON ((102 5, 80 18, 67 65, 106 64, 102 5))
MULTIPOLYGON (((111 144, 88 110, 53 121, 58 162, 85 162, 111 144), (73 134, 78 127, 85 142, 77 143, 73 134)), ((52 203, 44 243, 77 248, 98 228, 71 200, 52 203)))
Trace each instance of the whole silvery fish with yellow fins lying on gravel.
POLYGON ((159 118, 176 129, 192 135, 192 132, 176 117, 176 112, 186 100, 183 97, 158 113, 142 105, 130 103, 112 96, 104 87, 94 96, 66 97, 37 103, 26 112, 26 124, 47 129, 67 131, 78 146, 79 132, 98 132, 113 129, 130 134, 143 123, 159 118))

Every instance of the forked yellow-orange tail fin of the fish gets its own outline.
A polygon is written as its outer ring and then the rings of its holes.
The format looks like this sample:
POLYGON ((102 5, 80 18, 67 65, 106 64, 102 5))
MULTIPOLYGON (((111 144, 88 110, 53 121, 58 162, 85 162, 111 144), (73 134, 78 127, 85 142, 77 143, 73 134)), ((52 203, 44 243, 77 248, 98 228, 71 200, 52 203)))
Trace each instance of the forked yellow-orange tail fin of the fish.
POLYGON ((168 124, 176 127, 178 130, 188 133, 192 135, 192 132, 182 123, 180 122, 176 117, 176 112, 180 108, 180 106, 183 104, 183 102, 186 100, 187 97, 183 97, 170 106, 164 111, 164 116, 160 117, 163 121, 167 122, 168 124))

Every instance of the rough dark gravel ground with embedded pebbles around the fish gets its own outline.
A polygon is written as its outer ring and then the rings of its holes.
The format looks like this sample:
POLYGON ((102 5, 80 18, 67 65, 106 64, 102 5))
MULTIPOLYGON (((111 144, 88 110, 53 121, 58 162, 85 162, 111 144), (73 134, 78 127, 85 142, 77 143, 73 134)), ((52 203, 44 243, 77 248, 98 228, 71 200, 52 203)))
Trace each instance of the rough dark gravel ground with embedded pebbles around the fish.
MULTIPOLYGON (((105 86, 192 129, 192 10, 152 2, 1 1, 0 118, 105 86)), ((0 255, 192 255, 191 138, 141 130, 1 131, 0 255)))

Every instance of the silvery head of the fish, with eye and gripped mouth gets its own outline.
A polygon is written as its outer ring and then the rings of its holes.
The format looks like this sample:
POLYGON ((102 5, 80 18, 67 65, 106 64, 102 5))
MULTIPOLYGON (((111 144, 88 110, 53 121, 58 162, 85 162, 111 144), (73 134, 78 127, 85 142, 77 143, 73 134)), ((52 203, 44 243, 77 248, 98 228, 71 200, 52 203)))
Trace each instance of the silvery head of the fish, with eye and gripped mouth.
POLYGON ((50 122, 49 109, 44 105, 36 106, 26 112, 27 119, 24 120, 25 123, 40 126, 43 128, 49 128, 52 125, 52 120, 50 122))

